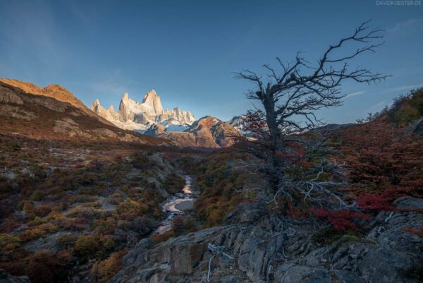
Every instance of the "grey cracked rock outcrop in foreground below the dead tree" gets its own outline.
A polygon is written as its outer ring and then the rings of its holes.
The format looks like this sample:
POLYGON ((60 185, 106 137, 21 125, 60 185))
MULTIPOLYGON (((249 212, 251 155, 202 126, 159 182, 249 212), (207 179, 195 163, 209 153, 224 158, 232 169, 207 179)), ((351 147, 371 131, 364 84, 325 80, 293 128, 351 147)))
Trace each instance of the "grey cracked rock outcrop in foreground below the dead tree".
POLYGON ((403 212, 381 212, 361 239, 345 235, 324 245, 311 240, 314 227, 281 225, 283 219, 274 215, 255 224, 251 217, 232 215, 236 224, 157 246, 144 239, 109 283, 200 283, 207 282, 209 270, 209 282, 417 283, 413 276, 422 268, 423 240, 405 229, 422 227, 423 214, 405 210, 422 210, 422 200, 403 198, 396 204, 403 212))

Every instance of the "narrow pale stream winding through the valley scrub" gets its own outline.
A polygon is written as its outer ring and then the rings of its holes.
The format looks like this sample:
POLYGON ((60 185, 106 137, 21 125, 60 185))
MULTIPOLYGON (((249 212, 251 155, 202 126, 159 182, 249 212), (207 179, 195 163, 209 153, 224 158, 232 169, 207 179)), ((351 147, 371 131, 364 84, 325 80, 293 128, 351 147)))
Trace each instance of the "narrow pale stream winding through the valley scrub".
POLYGON ((164 203, 163 212, 166 214, 166 218, 161 220, 159 227, 153 232, 153 234, 163 234, 172 229, 172 219, 178 215, 184 215, 184 210, 191 210, 195 202, 195 193, 192 193, 192 177, 184 176, 185 186, 183 189, 171 196, 164 203))

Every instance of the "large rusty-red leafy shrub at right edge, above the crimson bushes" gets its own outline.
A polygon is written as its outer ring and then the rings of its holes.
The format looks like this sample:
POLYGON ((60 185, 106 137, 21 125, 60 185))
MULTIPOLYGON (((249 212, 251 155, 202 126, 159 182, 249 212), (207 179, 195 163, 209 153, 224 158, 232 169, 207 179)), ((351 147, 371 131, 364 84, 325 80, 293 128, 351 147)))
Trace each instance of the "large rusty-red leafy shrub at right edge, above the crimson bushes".
POLYGON ((423 196, 423 138, 372 121, 346 128, 341 140, 350 192, 359 196, 362 208, 386 210, 400 196, 423 196))

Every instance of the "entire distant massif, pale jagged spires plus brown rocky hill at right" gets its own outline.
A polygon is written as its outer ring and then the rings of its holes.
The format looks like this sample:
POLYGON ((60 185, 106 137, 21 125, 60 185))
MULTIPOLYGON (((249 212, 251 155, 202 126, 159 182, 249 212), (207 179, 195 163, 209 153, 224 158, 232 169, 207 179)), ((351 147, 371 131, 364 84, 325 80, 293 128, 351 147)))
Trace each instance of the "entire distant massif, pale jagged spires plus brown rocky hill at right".
POLYGON ((233 136, 238 135, 233 126, 212 116, 196 121, 190 112, 179 107, 164 110, 155 90, 147 92, 142 102, 135 102, 125 92, 117 112, 112 106, 102 107, 99 100, 92 103, 91 109, 120 128, 166 138, 182 147, 228 147, 234 142, 233 136))

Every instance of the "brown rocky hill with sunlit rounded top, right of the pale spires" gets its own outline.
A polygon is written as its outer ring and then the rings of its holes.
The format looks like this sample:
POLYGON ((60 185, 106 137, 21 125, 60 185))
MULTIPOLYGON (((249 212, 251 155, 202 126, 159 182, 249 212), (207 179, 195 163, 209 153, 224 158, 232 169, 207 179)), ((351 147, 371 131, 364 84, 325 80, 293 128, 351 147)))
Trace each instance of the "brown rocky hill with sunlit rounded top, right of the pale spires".
POLYGON ((195 121, 183 131, 166 131, 163 126, 153 125, 145 133, 172 140, 183 147, 209 148, 229 147, 233 145, 233 138, 239 135, 233 126, 212 116, 195 121))

